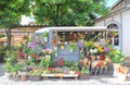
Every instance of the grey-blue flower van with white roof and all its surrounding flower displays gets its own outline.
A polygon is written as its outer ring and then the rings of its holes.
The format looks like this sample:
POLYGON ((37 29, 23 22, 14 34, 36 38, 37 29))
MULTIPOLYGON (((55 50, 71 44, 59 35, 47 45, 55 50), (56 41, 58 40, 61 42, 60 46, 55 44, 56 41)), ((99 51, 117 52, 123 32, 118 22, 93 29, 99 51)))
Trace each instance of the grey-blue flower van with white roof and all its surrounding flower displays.
MULTIPOLYGON (((52 77, 88 80, 91 75, 107 74, 112 63, 125 59, 107 36, 105 27, 95 26, 36 31, 31 40, 25 37, 25 42, 14 51, 6 51, 6 76, 39 81, 52 77)), ((127 69, 120 72, 126 73, 127 69)))

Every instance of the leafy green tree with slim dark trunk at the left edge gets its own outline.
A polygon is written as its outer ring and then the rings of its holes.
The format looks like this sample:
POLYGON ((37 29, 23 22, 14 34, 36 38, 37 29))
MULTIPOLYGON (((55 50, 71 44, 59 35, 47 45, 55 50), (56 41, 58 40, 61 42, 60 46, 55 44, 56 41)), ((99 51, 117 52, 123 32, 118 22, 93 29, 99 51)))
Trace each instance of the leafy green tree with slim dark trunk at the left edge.
POLYGON ((29 14, 29 0, 1 0, 0 8, 0 28, 5 28, 10 47, 11 29, 20 25, 22 14, 29 14))

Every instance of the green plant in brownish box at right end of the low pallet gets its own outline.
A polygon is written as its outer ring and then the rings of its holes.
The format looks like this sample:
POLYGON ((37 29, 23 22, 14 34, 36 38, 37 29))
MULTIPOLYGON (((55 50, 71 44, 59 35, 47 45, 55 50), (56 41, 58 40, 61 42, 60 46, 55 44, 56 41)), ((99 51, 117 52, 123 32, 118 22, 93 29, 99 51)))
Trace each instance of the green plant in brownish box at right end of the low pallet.
POLYGON ((89 78, 89 69, 82 66, 80 71, 80 80, 88 80, 89 78))

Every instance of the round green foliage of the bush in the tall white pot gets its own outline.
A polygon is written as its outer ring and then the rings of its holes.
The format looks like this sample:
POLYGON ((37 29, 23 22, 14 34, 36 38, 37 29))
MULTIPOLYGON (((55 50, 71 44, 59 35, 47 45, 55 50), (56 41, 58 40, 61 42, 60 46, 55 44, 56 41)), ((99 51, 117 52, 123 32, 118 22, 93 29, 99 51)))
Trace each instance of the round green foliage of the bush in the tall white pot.
POLYGON ((121 50, 113 49, 110 50, 109 58, 114 63, 120 63, 125 60, 125 54, 121 50))

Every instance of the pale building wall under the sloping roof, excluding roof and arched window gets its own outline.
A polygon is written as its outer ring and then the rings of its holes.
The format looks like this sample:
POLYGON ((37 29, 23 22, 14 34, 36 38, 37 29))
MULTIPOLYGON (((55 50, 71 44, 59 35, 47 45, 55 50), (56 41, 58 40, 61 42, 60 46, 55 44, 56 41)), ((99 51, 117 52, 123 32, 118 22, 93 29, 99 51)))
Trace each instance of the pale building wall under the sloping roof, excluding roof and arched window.
POLYGON ((130 10, 107 16, 95 22, 95 26, 107 26, 116 23, 119 26, 119 46, 127 57, 130 57, 130 10))

